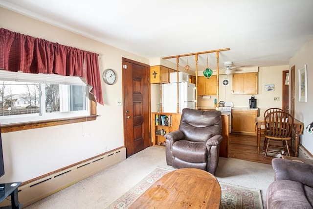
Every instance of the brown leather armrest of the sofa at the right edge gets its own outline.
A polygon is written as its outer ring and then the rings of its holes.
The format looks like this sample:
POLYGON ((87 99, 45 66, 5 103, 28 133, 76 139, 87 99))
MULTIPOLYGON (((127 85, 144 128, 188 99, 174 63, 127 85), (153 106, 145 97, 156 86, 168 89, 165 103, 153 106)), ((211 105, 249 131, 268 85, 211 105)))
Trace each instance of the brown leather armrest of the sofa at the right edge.
POLYGON ((275 180, 291 180, 313 187, 312 165, 274 158, 272 166, 275 172, 275 180))

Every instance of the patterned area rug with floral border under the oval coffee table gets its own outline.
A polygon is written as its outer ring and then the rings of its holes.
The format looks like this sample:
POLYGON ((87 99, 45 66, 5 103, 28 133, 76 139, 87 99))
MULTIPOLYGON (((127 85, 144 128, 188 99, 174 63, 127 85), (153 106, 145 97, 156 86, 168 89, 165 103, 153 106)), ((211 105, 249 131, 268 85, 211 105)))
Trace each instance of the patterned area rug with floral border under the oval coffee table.
MULTIPOLYGON (((124 193, 105 209, 127 209, 145 190, 170 170, 156 168, 136 186, 124 193)), ((219 182, 222 189, 220 209, 263 209, 261 191, 219 182)))

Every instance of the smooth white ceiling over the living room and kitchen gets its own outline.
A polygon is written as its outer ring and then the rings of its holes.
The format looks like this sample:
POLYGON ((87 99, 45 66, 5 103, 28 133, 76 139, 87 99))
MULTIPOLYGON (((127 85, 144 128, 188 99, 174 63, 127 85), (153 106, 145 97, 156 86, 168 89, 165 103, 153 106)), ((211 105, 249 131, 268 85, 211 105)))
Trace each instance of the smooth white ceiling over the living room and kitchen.
MULTIPOLYGON (((288 65, 313 37, 313 0, 0 0, 0 6, 149 59, 230 48, 220 52, 220 68, 225 61, 288 65)), ((195 68, 195 56, 188 64, 195 68)), ((216 69, 216 53, 199 55, 198 64, 216 69)))

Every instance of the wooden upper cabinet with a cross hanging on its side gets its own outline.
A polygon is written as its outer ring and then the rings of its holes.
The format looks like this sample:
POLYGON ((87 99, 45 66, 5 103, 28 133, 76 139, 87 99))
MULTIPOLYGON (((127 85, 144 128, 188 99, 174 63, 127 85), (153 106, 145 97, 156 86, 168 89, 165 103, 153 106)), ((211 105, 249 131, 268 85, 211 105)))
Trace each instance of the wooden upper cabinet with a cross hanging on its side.
POLYGON ((170 73, 176 72, 176 70, 157 65, 150 67, 150 82, 151 83, 169 83, 170 73))

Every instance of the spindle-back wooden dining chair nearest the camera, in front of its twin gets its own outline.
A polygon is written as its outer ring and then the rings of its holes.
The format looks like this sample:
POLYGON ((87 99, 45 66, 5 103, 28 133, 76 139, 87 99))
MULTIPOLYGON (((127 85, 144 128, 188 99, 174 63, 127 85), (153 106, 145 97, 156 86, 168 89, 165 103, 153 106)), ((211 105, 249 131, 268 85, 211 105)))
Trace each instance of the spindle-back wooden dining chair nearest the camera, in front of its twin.
POLYGON ((268 151, 268 147, 282 148, 285 150, 284 154, 287 151, 290 156, 289 141, 291 140, 293 117, 284 111, 275 111, 268 113, 268 115, 264 117, 264 124, 268 127, 264 132, 264 137, 266 139, 264 157, 267 156, 268 152, 273 152, 268 151), (283 145, 271 143, 271 140, 282 141, 283 145))

